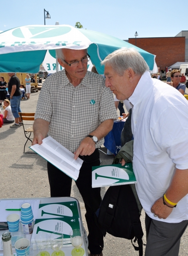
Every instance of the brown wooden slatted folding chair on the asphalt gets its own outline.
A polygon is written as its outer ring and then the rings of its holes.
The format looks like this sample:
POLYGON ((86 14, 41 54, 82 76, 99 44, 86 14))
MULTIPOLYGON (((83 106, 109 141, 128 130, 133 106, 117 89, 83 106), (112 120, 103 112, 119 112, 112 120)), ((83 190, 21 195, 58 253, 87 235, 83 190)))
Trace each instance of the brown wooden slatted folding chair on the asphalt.
MULTIPOLYGON (((20 117, 22 119, 22 122, 23 122, 24 134, 25 134, 25 137, 27 139, 26 142, 25 142, 25 145, 28 142, 28 140, 30 140, 32 142, 32 140, 30 139, 30 136, 33 133, 33 124, 32 123, 24 123, 24 121, 25 120, 27 120, 27 121, 34 121, 34 114, 35 113, 19 112, 19 115, 20 115, 20 117)), ((25 145, 24 145, 24 153, 27 153, 27 152, 25 152, 25 145)), ((34 152, 30 152, 30 153, 34 153, 34 152)))

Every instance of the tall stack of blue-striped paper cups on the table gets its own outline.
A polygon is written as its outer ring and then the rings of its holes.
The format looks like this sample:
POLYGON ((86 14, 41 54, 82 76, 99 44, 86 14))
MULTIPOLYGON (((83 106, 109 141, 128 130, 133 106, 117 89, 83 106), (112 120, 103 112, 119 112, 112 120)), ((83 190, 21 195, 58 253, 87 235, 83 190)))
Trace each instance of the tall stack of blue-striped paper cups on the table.
POLYGON ((21 206, 21 227, 24 234, 32 234, 34 228, 33 212, 30 203, 21 206))

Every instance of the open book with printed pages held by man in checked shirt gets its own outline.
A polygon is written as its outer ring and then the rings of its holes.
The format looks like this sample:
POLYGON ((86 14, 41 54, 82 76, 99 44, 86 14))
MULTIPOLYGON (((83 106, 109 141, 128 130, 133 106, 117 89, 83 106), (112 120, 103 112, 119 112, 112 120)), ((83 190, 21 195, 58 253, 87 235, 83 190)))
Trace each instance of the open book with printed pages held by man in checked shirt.
POLYGON ((75 160, 75 155, 52 137, 49 136, 42 140, 41 145, 35 144, 30 146, 30 149, 60 169, 73 180, 78 179, 83 160, 79 157, 75 160))

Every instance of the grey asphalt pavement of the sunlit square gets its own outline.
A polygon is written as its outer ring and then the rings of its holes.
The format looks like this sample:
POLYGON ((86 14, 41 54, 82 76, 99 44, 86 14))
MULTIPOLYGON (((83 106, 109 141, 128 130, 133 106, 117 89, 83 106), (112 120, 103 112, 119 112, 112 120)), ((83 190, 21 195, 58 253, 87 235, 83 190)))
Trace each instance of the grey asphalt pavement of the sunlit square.
MULTIPOLYGON (((188 93, 188 89, 186 89, 188 93)), ((31 93, 29 100, 21 101, 22 112, 35 112, 40 91, 31 93)), ((2 106, 0 106, 3 112, 2 106)), ((36 154, 24 154, 23 147, 26 141, 23 127, 9 128, 10 124, 4 124, 0 128, 0 198, 32 198, 50 197, 49 182, 47 175, 46 160, 36 154)), ((31 145, 28 142, 27 146, 31 145)), ((104 152, 107 149, 102 148, 104 152)), ((29 148, 26 151, 31 151, 29 148)), ((100 152, 102 165, 111 164, 113 156, 100 152)), ((60 188, 58 188, 60 189, 60 188)), ((101 195, 105 194, 107 188, 101 189, 101 195)), ((82 220, 87 231, 85 221, 85 207, 79 191, 72 183, 71 196, 78 199, 81 208, 82 220)), ((144 211, 142 211, 141 222, 144 232, 143 248, 146 245, 146 232, 144 228, 144 211)), ((131 241, 115 238, 107 234, 104 238, 104 256, 138 256, 131 241)), ((181 239, 180 256, 188 255, 188 229, 181 239)))

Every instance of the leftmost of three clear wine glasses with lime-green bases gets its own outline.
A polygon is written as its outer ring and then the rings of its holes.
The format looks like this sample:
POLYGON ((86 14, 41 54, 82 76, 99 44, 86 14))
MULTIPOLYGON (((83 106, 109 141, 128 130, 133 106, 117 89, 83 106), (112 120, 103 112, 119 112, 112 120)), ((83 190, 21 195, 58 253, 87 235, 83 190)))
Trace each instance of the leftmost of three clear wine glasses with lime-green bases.
POLYGON ((37 249, 39 249, 39 255, 40 256, 50 256, 50 254, 46 251, 48 248, 48 234, 46 232, 40 231, 38 234, 36 234, 35 243, 37 249))

